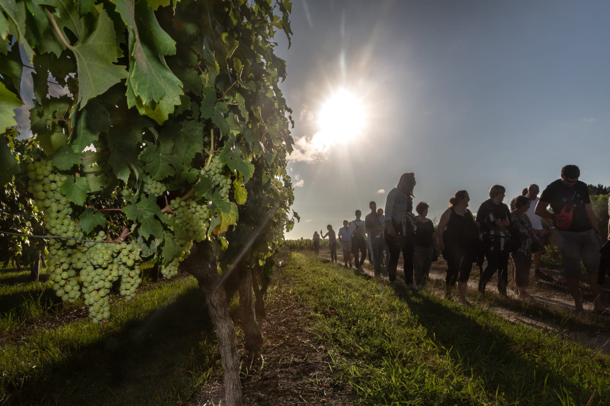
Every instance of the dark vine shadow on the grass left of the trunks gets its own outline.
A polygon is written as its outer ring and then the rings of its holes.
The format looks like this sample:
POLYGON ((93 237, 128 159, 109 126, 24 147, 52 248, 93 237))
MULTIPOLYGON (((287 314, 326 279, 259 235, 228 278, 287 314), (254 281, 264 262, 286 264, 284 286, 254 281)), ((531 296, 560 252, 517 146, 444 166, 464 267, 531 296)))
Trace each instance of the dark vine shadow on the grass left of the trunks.
MULTIPOLYGON (((38 366, 43 371, 21 387, 6 388, 9 403, 176 404, 171 396, 185 385, 184 378, 218 362, 215 352, 202 345, 213 346, 214 340, 205 300, 201 291, 192 289, 116 334, 85 346, 74 339, 60 349, 73 355, 38 366)), ((40 351, 48 349, 45 340, 38 345, 40 351)))

